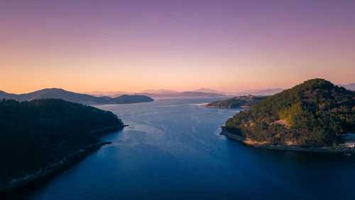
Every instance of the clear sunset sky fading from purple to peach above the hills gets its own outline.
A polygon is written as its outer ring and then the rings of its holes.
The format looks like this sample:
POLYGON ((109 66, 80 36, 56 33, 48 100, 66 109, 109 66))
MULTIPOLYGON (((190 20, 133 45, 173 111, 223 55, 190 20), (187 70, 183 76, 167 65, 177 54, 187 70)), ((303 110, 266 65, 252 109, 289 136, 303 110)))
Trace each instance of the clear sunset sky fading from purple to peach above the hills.
POLYGON ((355 83, 355 1, 1 0, 0 90, 355 83))

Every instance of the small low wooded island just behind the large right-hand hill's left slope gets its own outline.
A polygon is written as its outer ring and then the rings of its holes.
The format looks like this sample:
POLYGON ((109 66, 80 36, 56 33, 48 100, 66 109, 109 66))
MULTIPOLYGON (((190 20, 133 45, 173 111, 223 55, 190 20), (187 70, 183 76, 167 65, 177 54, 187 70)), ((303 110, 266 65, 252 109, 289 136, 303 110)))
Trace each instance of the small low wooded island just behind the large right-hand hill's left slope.
POLYGON ((208 103, 205 107, 217 107, 217 108, 238 108, 238 107, 253 107, 257 102, 268 98, 268 96, 239 96, 229 98, 226 100, 217 100, 208 103))

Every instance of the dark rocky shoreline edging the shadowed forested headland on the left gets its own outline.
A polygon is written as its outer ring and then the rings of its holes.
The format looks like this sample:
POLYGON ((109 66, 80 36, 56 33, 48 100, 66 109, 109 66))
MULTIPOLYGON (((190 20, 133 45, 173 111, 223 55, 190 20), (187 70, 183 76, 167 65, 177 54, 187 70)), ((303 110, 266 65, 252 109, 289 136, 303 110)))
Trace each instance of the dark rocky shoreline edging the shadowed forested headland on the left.
MULTIPOLYGON (((127 126, 128 125, 103 127, 99 130, 92 130, 92 132, 99 133, 99 134, 105 134, 109 132, 113 133, 114 131, 123 129, 124 127, 127 126)), ((60 161, 50 164, 49 166, 40 169, 37 172, 34 172, 32 174, 27 174, 26 177, 13 179, 11 182, 9 182, 9 184, 0 186, 0 196, 16 191, 16 189, 21 189, 22 187, 31 184, 35 181, 40 181, 40 179, 45 179, 47 177, 50 177, 51 175, 60 172, 60 170, 65 169, 66 167, 70 167, 72 164, 75 164, 76 162, 79 162, 81 159, 83 159, 90 153, 99 149, 99 147, 111 143, 112 142, 100 141, 95 144, 89 144, 86 147, 77 150, 76 152, 67 154, 60 161)))

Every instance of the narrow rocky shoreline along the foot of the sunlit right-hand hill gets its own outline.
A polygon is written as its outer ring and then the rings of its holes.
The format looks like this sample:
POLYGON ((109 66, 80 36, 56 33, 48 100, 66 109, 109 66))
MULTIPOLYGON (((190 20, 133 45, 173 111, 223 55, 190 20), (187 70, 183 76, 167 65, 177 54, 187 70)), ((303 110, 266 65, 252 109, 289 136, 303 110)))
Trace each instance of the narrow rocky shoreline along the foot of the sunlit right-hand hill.
POLYGON ((248 147, 260 148, 260 149, 273 149, 280 151, 294 151, 294 152, 322 152, 322 153, 332 153, 332 154, 345 154, 345 155, 355 155, 355 149, 342 148, 335 149, 329 147, 296 147, 296 146, 283 146, 283 145, 273 145, 273 144, 258 144, 251 140, 241 137, 239 135, 232 134, 228 132, 225 127, 222 127, 222 132, 219 135, 226 136, 229 140, 236 140, 241 144, 248 147))

